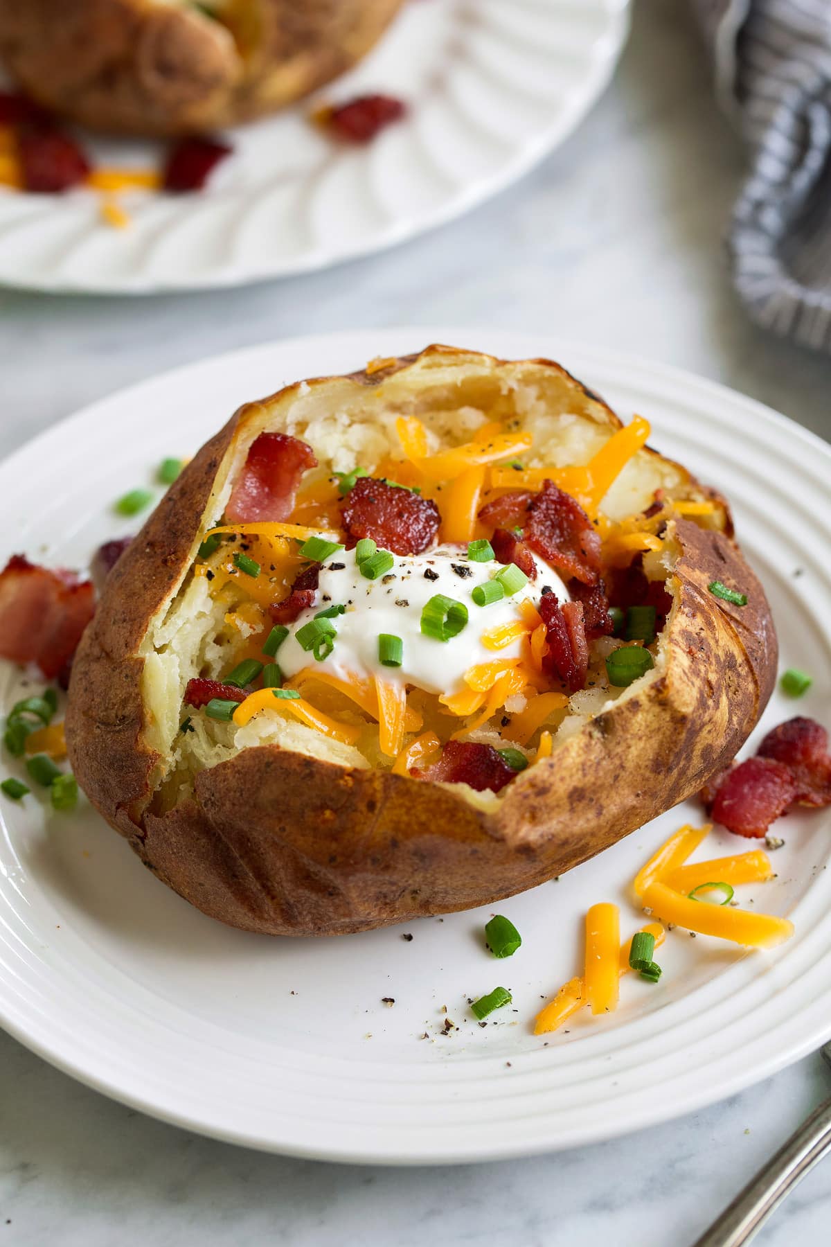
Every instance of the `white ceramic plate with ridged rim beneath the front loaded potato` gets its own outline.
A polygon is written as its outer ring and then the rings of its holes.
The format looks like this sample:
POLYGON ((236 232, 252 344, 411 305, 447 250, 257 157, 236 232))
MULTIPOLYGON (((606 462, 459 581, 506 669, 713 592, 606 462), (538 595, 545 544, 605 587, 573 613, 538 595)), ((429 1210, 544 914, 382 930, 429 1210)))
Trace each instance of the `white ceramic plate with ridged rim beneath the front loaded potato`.
MULTIPOLYGON (((364 332, 167 373, 88 408, 0 469, 4 557, 25 550, 86 565, 102 539, 130 529, 112 500, 150 481, 164 455, 192 453, 243 399, 430 340, 553 355, 625 419, 648 415, 653 444, 735 504, 770 594, 782 667, 816 677, 799 702, 775 695, 754 741, 794 713, 827 721, 831 449, 709 382, 544 337, 364 332)), ((19 683, 10 671, 2 682, 7 708, 19 683)), ((789 944, 743 955, 673 933, 658 986, 627 979, 614 1015, 578 1015, 548 1042, 531 1023, 543 996, 578 971, 586 908, 617 900, 624 932, 634 929, 643 919, 627 884, 672 829, 700 821, 694 804, 559 883, 501 903, 523 936, 510 961, 483 948, 491 910, 341 939, 243 934, 157 883, 83 802, 72 817, 47 817, 36 797, 25 808, 2 798, 0 813, 2 1024, 108 1095, 254 1147, 402 1163, 567 1147, 700 1107, 831 1035, 829 811, 777 824, 786 840, 774 858, 777 879, 739 889, 745 903, 792 918, 789 944), (513 990, 515 1011, 480 1028, 467 998, 497 984, 513 990), (446 1016, 458 1026, 449 1036, 446 1016)), ((748 847, 723 832, 704 855, 748 847)))

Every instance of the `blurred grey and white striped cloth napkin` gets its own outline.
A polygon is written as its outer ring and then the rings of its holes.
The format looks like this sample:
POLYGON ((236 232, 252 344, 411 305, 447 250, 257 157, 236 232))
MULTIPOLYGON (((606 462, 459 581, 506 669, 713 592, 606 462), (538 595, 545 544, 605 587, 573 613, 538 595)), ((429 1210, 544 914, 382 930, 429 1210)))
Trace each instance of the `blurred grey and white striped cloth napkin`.
POLYGON ((693 0, 750 153, 730 223, 759 324, 831 350, 831 0, 693 0))

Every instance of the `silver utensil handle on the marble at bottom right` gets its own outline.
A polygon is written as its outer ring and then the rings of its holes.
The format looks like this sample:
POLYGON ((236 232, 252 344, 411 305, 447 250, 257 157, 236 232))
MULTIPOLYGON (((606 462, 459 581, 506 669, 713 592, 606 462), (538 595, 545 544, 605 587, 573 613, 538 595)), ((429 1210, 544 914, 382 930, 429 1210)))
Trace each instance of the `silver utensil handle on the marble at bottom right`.
POLYGON ((831 1151, 831 1100, 811 1114, 693 1247, 741 1247, 831 1151))

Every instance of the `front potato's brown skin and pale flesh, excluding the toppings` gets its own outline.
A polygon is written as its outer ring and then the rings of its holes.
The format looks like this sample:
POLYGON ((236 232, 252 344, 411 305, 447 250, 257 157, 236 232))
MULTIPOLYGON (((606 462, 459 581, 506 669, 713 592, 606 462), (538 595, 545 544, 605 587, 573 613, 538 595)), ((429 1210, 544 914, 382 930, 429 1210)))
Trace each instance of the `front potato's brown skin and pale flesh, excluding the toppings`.
MULTIPOLYGON (((194 560, 255 439, 305 439, 313 478, 391 460, 400 480, 399 416, 422 421, 439 450, 466 443, 477 421, 522 429, 533 436, 529 469, 586 464, 620 429, 557 364, 449 347, 288 385, 242 407, 189 463, 110 574, 75 660, 66 736, 78 782, 159 879, 234 927, 343 934, 531 888, 696 792, 734 757, 772 690, 775 632, 726 504, 644 448, 602 511, 612 527, 662 513, 660 550, 644 556, 650 582, 672 596, 654 667, 625 688, 573 695, 549 725, 551 756, 536 733, 531 764, 500 792, 394 773, 358 711, 353 744, 277 713, 242 728, 193 713, 197 729, 182 732, 188 680, 222 678, 245 652, 218 648, 227 604, 216 610, 206 597, 194 560), (693 501, 694 518, 674 510, 679 500, 693 501), (746 605, 714 596, 716 580, 739 586, 746 605)), ((487 738, 506 718, 486 725, 487 738)))

